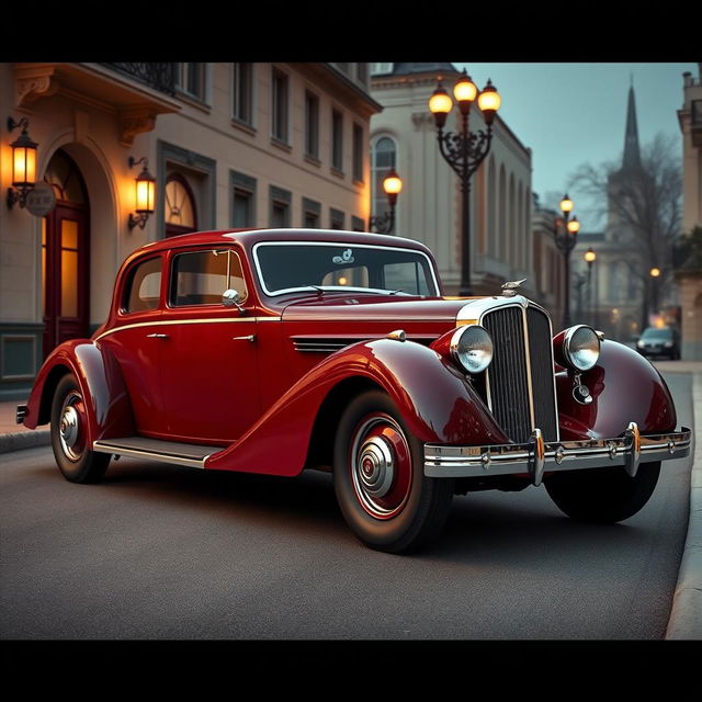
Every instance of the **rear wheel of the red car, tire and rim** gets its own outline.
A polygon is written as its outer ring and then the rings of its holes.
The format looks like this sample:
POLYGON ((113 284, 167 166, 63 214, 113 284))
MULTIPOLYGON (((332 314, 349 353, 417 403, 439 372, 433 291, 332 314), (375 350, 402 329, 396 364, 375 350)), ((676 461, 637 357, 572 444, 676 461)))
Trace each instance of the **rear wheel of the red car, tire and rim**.
POLYGON ((64 477, 71 483, 98 483, 112 457, 88 449, 86 403, 78 381, 65 375, 52 404, 52 448, 64 477))

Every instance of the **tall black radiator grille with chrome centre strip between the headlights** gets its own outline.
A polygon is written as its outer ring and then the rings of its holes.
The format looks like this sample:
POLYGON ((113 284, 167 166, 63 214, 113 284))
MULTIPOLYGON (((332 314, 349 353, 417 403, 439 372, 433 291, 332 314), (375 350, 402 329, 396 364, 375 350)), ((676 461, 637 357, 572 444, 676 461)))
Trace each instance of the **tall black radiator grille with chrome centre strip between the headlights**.
POLYGON ((492 337, 486 371, 488 406, 507 435, 529 441, 534 427, 558 440, 553 348, 548 317, 535 307, 509 305, 486 312, 480 324, 492 337))

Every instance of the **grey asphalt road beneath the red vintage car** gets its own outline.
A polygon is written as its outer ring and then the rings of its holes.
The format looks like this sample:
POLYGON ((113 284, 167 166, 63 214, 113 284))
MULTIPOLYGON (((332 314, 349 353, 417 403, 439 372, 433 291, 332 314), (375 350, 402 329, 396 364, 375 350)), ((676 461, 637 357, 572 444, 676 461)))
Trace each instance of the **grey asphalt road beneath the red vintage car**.
MULTIPOLYGON (((689 376, 667 375, 692 426, 689 376)), ((50 449, 0 455, 3 639, 660 639, 688 523, 691 458, 611 526, 543 487, 454 499, 414 556, 360 544, 331 479, 137 460, 72 485, 50 449)))

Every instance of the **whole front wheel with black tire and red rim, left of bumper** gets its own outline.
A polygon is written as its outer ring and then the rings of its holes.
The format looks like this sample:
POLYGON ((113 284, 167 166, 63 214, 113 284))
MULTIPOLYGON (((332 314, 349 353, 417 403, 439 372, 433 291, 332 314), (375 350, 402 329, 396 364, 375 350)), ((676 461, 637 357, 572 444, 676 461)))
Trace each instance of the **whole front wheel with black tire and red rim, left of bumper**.
POLYGON ((386 394, 367 392, 349 404, 337 429, 333 484, 363 543, 386 553, 428 543, 449 516, 453 483, 424 476, 422 444, 386 394))

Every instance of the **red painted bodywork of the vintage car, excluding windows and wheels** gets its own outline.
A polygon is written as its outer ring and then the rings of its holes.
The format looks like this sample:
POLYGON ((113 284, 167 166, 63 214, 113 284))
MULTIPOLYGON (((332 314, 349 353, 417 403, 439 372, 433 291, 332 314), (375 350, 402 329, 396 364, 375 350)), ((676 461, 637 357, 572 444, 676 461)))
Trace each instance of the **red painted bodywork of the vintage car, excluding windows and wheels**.
MULTIPOLYGON (((87 400, 90 442, 141 434, 225 446, 210 455, 205 467, 293 476, 307 465, 325 403, 343 384, 360 383, 385 390, 422 442, 510 443, 473 381, 450 358, 448 339, 430 348, 456 327, 466 299, 441 298, 441 290, 429 299, 351 290, 267 295, 253 248, 303 238, 399 246, 421 251, 435 270, 423 245, 372 234, 237 230, 148 245, 120 269, 109 317, 92 339, 65 342, 48 356, 24 424, 33 429, 49 421, 53 390, 59 376, 70 372, 87 400), (244 312, 222 304, 170 307, 172 258, 211 248, 230 248, 239 256, 248 292, 244 312), (132 267, 149 257, 163 261, 159 308, 125 313, 132 267), (408 340, 385 338, 396 329, 408 340), (315 340, 344 348, 331 355, 305 352, 315 340)), ((642 432, 675 428, 665 382, 635 351, 604 341, 598 364, 581 380, 593 396, 590 405, 574 399, 571 374, 556 367, 563 440, 622 435, 631 421, 642 432)))

